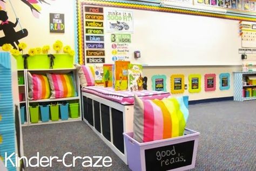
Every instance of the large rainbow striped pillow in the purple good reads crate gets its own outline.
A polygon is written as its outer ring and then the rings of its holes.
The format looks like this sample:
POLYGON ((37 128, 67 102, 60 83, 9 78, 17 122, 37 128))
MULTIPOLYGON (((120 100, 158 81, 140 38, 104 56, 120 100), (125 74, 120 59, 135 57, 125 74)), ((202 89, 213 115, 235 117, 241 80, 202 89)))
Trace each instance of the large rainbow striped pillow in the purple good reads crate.
POLYGON ((162 100, 134 97, 133 138, 148 142, 181 136, 188 118, 188 96, 162 100))

